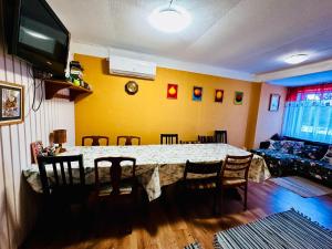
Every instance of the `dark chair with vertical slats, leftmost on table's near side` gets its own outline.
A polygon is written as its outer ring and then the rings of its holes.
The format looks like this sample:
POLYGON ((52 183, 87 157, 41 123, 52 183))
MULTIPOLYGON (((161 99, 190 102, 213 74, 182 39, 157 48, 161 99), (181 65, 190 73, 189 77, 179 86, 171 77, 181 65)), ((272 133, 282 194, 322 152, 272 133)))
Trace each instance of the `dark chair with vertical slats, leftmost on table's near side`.
POLYGON ((40 156, 38 157, 40 179, 43 190, 44 211, 41 219, 48 222, 44 228, 52 226, 66 227, 74 224, 68 220, 73 218, 72 205, 81 207, 81 218, 79 219, 80 228, 85 228, 87 219, 87 206, 92 189, 85 185, 85 173, 83 167, 83 155, 76 156, 40 156), (75 164, 75 165, 74 165, 75 164), (73 166, 79 168, 73 168, 73 166), (79 172, 79 178, 74 179, 74 170, 79 172), (68 215, 70 215, 68 217, 68 215), (50 219, 52 221, 50 222, 50 219), (54 224, 53 224, 54 222, 54 224))

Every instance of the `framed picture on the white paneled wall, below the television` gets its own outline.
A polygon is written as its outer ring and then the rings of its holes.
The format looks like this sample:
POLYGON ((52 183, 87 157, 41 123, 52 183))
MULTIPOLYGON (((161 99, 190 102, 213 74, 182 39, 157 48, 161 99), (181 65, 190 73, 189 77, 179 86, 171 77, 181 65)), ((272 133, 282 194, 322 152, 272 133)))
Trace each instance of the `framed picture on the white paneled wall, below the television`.
POLYGON ((0 82, 0 125, 19 124, 24 120, 24 86, 0 82))

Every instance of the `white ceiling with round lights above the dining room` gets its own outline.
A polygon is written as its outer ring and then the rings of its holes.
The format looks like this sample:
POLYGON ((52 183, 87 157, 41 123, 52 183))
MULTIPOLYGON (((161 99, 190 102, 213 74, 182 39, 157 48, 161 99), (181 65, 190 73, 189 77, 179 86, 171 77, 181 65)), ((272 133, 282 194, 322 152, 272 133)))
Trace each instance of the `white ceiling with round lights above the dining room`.
POLYGON ((148 14, 168 0, 48 0, 75 42, 112 46, 250 74, 289 68, 308 52, 332 58, 332 0, 174 0, 193 18, 178 34, 153 29, 148 14))

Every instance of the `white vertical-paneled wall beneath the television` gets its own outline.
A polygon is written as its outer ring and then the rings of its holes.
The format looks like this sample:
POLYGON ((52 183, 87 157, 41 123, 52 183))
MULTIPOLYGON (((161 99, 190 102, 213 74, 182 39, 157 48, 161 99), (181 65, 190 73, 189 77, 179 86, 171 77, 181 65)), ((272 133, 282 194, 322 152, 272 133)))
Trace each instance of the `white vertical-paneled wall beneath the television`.
MULTIPOLYGON (((31 166, 30 143, 41 139, 48 145, 51 131, 65 128, 68 144, 74 145, 75 126, 74 104, 66 100, 43 101, 38 112, 31 110, 31 68, 7 54, 1 22, 0 28, 0 81, 25 86, 24 123, 0 126, 0 249, 11 249, 20 246, 35 221, 35 196, 22 176, 22 169, 31 166)), ((44 87, 40 82, 37 85, 38 105, 44 100, 44 87)))

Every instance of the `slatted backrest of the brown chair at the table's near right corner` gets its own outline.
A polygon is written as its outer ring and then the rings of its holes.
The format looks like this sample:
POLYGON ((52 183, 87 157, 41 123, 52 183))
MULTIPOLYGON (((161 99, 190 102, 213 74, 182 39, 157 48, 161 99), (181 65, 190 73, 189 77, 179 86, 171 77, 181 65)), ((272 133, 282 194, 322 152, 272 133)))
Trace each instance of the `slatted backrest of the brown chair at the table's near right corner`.
POLYGON ((252 157, 253 154, 248 156, 227 155, 221 168, 221 177, 224 177, 225 172, 232 172, 237 175, 237 177, 242 177, 243 179, 248 180, 248 173, 252 157))

